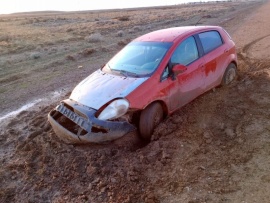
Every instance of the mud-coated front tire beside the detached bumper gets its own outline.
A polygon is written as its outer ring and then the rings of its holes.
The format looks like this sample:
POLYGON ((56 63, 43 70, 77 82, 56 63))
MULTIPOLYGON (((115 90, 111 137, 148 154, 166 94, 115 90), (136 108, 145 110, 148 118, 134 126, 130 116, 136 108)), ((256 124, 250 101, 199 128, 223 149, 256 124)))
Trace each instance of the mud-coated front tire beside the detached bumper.
POLYGON ((163 120, 163 109, 159 103, 150 104, 140 116, 139 130, 142 139, 151 140, 155 127, 163 120))

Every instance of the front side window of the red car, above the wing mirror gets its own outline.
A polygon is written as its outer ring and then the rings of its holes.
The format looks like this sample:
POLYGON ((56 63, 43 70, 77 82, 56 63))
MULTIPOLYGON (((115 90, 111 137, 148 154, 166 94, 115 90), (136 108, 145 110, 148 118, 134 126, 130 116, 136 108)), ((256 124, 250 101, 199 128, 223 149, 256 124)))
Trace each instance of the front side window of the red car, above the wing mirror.
POLYGON ((174 64, 188 65, 199 58, 194 37, 184 40, 174 51, 171 62, 174 64))

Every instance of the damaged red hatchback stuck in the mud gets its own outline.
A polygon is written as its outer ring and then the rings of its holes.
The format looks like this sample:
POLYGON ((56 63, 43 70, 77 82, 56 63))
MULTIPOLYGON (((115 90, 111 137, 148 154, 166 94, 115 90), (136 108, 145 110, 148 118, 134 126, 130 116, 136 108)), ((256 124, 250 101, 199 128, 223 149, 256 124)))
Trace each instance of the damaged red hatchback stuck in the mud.
POLYGON ((115 140, 138 128, 150 140, 163 118, 204 92, 233 81, 235 44, 218 26, 143 35, 84 79, 49 115, 67 143, 115 140))

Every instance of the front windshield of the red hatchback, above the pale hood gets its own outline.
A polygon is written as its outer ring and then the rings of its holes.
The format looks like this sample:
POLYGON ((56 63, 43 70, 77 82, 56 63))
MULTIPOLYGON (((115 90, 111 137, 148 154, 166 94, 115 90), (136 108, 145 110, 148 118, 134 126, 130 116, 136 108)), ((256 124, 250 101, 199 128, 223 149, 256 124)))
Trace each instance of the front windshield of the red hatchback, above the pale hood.
POLYGON ((156 70, 171 45, 170 42, 131 42, 102 71, 126 77, 148 77, 156 70))

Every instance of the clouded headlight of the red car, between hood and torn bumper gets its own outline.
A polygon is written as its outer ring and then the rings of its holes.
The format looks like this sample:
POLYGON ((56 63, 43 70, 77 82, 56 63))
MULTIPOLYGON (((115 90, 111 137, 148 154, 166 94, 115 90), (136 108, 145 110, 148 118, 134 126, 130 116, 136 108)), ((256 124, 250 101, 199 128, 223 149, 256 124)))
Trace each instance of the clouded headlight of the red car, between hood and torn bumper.
POLYGON ((116 99, 112 101, 103 111, 99 114, 98 119, 109 120, 123 116, 129 107, 129 102, 126 99, 116 99))

